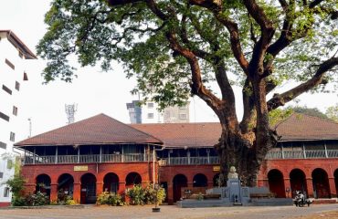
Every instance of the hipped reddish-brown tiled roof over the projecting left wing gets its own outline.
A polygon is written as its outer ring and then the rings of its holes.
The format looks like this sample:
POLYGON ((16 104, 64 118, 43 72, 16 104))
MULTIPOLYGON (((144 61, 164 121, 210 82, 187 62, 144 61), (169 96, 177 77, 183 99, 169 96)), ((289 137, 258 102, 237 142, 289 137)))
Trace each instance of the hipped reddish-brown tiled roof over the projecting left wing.
POLYGON ((163 142, 142 130, 136 130, 130 125, 100 114, 17 142, 15 145, 97 145, 112 143, 162 144, 163 142))

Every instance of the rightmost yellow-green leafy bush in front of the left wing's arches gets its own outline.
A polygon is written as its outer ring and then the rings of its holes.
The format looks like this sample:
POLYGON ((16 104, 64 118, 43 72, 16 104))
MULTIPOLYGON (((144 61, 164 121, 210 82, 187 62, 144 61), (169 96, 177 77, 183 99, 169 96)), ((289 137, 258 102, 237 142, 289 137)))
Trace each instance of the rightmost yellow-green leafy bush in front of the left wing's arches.
POLYGON ((153 184, 148 184, 144 188, 141 185, 134 185, 127 191, 127 196, 131 204, 156 203, 161 204, 165 199, 165 190, 162 187, 153 188, 153 184))

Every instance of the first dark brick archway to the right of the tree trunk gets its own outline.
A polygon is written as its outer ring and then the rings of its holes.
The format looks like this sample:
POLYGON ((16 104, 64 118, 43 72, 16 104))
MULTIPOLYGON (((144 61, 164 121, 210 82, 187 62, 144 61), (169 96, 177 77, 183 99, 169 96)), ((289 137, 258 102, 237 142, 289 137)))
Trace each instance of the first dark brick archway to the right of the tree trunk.
POLYGON ((271 170, 268 173, 269 191, 276 194, 276 198, 285 198, 284 177, 279 170, 271 170))

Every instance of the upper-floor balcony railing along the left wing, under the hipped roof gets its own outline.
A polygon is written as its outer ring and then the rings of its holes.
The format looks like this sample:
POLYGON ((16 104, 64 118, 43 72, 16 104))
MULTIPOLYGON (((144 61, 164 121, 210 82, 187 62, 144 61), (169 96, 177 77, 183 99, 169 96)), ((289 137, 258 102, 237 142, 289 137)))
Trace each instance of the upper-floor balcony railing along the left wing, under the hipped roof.
POLYGON ((152 162, 153 154, 88 154, 88 155, 52 155, 25 156, 24 164, 53 164, 53 163, 90 163, 90 162, 152 162), (149 159, 148 159, 149 158, 149 159), (56 162, 57 161, 57 162, 56 162))

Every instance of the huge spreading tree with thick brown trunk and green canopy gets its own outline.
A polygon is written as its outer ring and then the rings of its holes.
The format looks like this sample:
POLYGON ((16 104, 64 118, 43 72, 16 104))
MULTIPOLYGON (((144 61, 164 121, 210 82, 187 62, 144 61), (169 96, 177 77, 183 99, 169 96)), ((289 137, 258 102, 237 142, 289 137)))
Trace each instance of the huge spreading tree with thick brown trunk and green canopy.
POLYGON ((133 91, 161 107, 203 99, 222 127, 223 176, 235 165, 254 185, 279 138, 269 111, 337 79, 337 8, 336 0, 53 0, 37 53, 49 60, 47 82, 71 81, 75 54, 81 66, 123 63, 137 78, 133 91), (275 91, 290 80, 294 88, 275 91), (242 87, 241 120, 233 86, 242 87))

